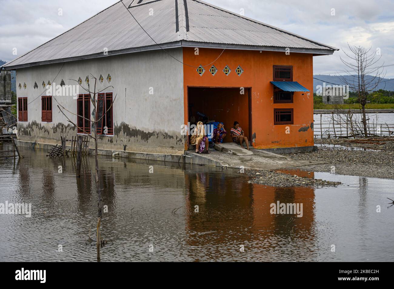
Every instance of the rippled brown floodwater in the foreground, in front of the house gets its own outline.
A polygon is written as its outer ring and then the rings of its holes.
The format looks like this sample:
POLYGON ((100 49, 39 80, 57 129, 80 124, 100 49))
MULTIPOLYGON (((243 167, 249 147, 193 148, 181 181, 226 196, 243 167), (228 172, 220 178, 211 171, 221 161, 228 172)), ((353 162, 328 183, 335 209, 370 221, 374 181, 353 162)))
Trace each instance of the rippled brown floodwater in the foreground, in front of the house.
MULTIPOLYGON (((87 243, 89 228, 95 239, 94 158, 83 159, 77 180, 72 157, 22 154, 0 158, 0 203, 31 203, 32 215, 0 214, 0 261, 96 261, 87 243)), ((314 173, 344 185, 275 188, 190 163, 100 156, 99 165, 108 206, 101 261, 394 260, 394 180, 314 173), (270 214, 277 201, 302 203, 302 217, 270 214)))

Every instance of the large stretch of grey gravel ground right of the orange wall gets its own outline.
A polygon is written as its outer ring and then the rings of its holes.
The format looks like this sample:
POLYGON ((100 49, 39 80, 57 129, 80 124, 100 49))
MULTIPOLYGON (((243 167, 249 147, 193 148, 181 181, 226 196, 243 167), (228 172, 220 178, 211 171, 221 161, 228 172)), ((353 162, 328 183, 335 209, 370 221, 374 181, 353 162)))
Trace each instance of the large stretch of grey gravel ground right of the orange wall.
POLYGON ((319 148, 317 152, 285 156, 296 160, 327 161, 326 164, 297 169, 331 172, 334 166, 336 174, 394 179, 394 140, 383 140, 380 145, 350 143, 349 140, 351 139, 315 139, 315 145, 319 148))

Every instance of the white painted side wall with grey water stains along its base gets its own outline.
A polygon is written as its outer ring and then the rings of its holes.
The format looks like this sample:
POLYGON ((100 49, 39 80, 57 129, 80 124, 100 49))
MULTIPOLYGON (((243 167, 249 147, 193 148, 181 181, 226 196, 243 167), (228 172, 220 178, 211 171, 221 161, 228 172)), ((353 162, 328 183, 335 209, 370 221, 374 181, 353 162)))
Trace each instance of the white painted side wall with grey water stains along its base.
MULTIPOLYGON (((167 50, 177 59, 182 59, 182 49, 167 50)), ((52 122, 41 122, 41 95, 46 94, 42 82, 52 82, 63 63, 39 65, 17 70, 17 96, 28 97, 28 122, 18 122, 19 138, 39 143, 60 143, 63 124, 67 126, 67 138, 76 135, 76 129, 67 122, 52 97, 52 122), (38 89, 34 89, 37 82, 38 89), (22 89, 18 85, 21 83, 22 89), (26 89, 23 84, 26 83, 26 89), (35 99, 37 98, 37 99, 35 99), (31 102, 31 103, 30 103, 31 102)), ((184 123, 184 88, 182 64, 162 50, 108 56, 83 61, 66 62, 54 81, 59 85, 78 85, 70 79, 82 79, 93 74, 104 77, 97 80, 97 91, 113 92, 113 137, 101 137, 99 148, 134 152, 182 154, 184 137, 180 135, 184 123), (108 74, 112 80, 107 82, 108 74), (154 94, 149 94, 152 87, 154 94)), ((94 84, 90 77, 90 85, 94 84)), ((93 90, 93 88, 91 88, 93 90)), ((85 91, 80 87, 80 93, 85 91)), ((72 113, 76 113, 76 100, 72 96, 55 96, 58 102, 72 113)), ((91 110, 93 106, 91 106, 91 110)), ((64 111, 76 123, 76 116, 64 111)))

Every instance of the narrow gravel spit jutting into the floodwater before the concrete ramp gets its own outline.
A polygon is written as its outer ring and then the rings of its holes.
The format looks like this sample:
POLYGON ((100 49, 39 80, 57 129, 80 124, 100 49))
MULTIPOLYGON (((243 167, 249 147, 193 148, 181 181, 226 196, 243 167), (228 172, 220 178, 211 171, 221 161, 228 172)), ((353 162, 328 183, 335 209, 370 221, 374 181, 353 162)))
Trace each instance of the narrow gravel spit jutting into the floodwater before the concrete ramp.
POLYGON ((341 184, 340 182, 329 182, 308 177, 304 178, 274 170, 245 170, 245 173, 251 177, 248 183, 260 183, 273 187, 336 187, 341 184))

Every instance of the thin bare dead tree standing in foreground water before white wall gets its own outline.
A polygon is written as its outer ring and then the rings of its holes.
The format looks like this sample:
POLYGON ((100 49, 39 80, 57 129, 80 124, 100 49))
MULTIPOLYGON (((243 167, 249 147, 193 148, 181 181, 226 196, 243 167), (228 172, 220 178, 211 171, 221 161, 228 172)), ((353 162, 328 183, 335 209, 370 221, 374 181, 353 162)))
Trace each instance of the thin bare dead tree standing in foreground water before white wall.
MULTIPOLYGON (((96 128, 97 128, 97 124, 102 120, 102 118, 106 115, 106 113, 112 108, 113 102, 115 101, 117 94, 113 98, 108 109, 106 111, 104 111, 104 109, 103 109, 102 116, 99 118, 99 112, 98 112, 99 97, 98 97, 98 94, 109 87, 113 88, 113 86, 108 86, 108 87, 102 89, 101 91, 96 91, 97 78, 95 78, 95 76, 93 76, 92 74, 91 74, 91 77, 92 77, 92 79, 95 80, 93 91, 90 90, 89 77, 87 80, 87 89, 85 87, 83 87, 77 80, 74 80, 82 87, 82 89, 84 89, 87 93, 89 93, 91 103, 93 104, 93 111, 92 111, 91 115, 89 116, 89 119, 84 117, 83 115, 78 115, 76 113, 72 113, 71 111, 66 109, 64 106, 59 104, 59 102, 58 102, 58 100, 56 100, 56 98, 54 98, 54 99, 58 103, 58 108, 61 111, 61 113, 63 113, 63 115, 67 118, 67 121, 70 122, 71 124, 73 124, 76 128, 78 128, 78 125, 76 125, 74 122, 72 122, 69 119, 69 117, 67 117, 67 115, 63 112, 63 110, 71 113, 72 115, 76 115, 77 117, 81 117, 84 120, 88 120, 89 123, 91 123, 92 134, 89 134, 89 132, 85 131, 82 128, 80 128, 80 129, 82 129, 84 131, 84 133, 89 135, 89 137, 91 137, 95 141, 95 173, 96 173, 96 187, 97 187, 97 243, 96 243, 96 246, 97 246, 97 261, 100 261, 100 239, 101 239, 100 238, 100 235, 101 235, 100 234, 100 224, 101 224, 101 217, 102 217, 102 196, 101 196, 102 189, 100 187, 100 169, 99 169, 98 144, 97 144, 98 134, 97 134, 96 128)), ((103 101, 105 101, 105 98, 103 101)))

